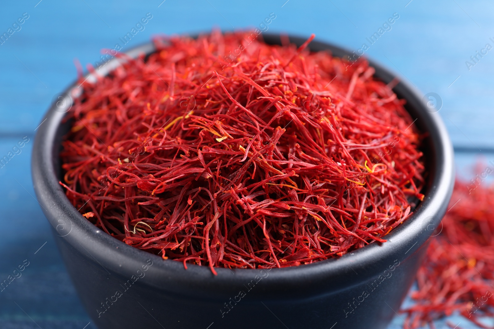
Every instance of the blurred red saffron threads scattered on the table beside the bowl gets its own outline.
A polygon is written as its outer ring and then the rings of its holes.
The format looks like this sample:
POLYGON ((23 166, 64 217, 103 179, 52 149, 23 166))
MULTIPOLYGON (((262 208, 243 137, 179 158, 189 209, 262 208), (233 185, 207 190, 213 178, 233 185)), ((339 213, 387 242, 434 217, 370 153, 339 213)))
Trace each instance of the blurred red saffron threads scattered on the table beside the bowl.
POLYGON ((452 314, 493 328, 481 318, 494 317, 494 185, 477 183, 456 180, 450 210, 417 273, 416 303, 402 310, 404 328, 435 328, 434 320, 452 314))

